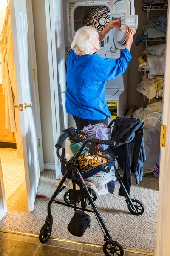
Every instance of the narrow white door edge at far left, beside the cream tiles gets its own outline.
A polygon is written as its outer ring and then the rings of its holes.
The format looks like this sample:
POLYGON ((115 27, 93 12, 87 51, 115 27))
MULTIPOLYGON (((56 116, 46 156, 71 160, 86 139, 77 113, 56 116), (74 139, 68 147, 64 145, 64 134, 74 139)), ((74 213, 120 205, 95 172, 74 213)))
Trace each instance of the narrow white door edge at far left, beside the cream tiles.
POLYGON ((6 207, 6 198, 5 198, 5 190, 3 185, 3 172, 0 161, 0 221, 6 215, 7 207, 6 207))

